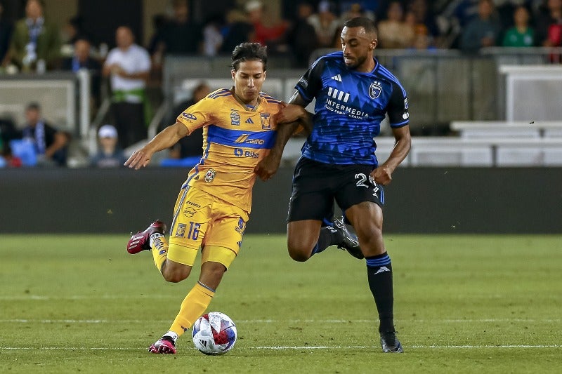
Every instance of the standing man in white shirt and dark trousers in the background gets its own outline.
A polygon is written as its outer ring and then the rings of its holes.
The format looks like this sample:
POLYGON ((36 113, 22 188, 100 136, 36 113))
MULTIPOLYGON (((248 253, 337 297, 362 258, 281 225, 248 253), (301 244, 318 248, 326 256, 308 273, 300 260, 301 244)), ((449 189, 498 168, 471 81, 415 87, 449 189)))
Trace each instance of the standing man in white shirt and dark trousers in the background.
POLYGON ((115 32, 117 47, 107 54, 103 76, 110 76, 112 112, 119 134, 119 146, 129 147, 147 137, 150 103, 146 81, 150 75, 150 56, 134 43, 133 32, 121 26, 115 32))

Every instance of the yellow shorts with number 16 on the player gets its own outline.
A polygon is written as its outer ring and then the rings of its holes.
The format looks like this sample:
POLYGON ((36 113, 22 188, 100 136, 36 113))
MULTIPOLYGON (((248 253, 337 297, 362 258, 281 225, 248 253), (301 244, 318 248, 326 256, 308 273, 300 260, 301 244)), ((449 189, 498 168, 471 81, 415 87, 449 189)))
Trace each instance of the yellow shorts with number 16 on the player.
POLYGON ((248 218, 246 211, 207 192, 181 189, 170 231, 169 260, 193 266, 202 248, 202 262, 219 262, 228 269, 240 251, 248 218))

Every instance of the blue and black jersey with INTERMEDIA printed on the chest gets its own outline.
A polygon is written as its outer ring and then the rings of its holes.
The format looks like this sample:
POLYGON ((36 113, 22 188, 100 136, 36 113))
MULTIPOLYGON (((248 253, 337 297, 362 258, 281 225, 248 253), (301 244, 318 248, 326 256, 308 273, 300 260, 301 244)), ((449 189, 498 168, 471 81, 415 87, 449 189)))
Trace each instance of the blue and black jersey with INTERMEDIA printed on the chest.
POLYGON ((334 52, 316 60, 295 88, 308 103, 314 98, 313 131, 302 148, 308 159, 347 165, 377 166, 374 151, 381 121, 408 124, 406 91, 391 72, 375 59, 372 72, 348 69, 344 53, 334 52))

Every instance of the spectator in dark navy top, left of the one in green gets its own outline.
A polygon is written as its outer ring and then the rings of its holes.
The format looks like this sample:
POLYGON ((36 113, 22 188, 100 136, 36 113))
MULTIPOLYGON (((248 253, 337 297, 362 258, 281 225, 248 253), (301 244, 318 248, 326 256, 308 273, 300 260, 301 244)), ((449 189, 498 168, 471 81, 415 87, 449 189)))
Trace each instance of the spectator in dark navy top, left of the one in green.
POLYGON ((502 26, 492 0, 478 1, 478 17, 462 30, 460 48, 466 53, 478 53, 481 48, 498 45, 502 26))

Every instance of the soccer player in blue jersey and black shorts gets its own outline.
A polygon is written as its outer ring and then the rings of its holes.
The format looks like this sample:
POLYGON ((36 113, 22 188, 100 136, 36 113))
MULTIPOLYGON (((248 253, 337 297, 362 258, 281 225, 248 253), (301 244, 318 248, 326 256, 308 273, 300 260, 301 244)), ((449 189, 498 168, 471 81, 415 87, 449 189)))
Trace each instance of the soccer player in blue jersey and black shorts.
MULTIPOLYGON (((276 116, 277 139, 255 168, 263 180, 275 174, 285 144, 300 121, 308 133, 295 166, 287 218, 287 247, 306 261, 333 243, 335 230, 322 226, 334 199, 358 236, 367 279, 379 312, 381 347, 403 352, 393 319, 391 258, 382 236, 384 185, 410 152, 408 104, 404 88, 374 58, 377 28, 368 18, 348 20, 341 31, 343 51, 316 60, 296 84, 289 105, 276 116), (315 114, 304 107, 315 98, 315 114), (388 114, 396 145, 384 163, 375 156, 381 121, 388 114), (285 125, 282 125, 285 123, 285 125)), ((337 225, 337 222, 334 222, 337 225)))

